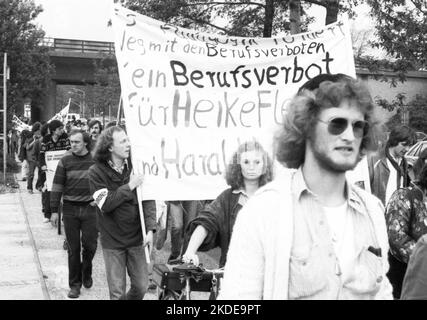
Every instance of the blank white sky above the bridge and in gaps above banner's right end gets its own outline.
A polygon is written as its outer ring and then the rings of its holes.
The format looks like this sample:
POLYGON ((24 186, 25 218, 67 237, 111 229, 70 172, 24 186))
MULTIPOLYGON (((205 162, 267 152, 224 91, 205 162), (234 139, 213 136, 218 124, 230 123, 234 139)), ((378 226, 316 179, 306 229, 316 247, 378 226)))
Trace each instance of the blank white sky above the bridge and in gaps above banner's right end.
MULTIPOLYGON (((37 17, 36 22, 46 32, 47 37, 114 41, 113 30, 107 27, 113 0, 34 0, 34 2, 43 6, 44 11, 37 17)), ((316 22, 310 29, 323 26, 326 10, 313 6, 310 11, 316 16, 316 22)), ((363 11, 366 9, 362 10, 357 20, 352 23, 353 28, 360 26, 366 28, 371 25, 363 11)))

